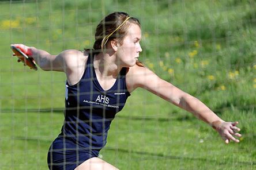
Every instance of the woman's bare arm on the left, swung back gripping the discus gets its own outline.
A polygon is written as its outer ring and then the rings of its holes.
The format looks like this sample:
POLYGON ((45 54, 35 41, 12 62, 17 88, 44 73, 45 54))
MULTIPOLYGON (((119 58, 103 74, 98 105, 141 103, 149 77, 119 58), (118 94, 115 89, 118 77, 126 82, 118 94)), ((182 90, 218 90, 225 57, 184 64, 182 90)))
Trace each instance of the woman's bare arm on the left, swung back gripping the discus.
POLYGON ((82 52, 69 49, 59 53, 59 55, 51 55, 47 51, 37 49, 35 47, 28 47, 24 44, 12 44, 20 48, 22 52, 32 57, 36 64, 44 71, 61 71, 69 74, 72 69, 75 69, 80 63, 82 52))

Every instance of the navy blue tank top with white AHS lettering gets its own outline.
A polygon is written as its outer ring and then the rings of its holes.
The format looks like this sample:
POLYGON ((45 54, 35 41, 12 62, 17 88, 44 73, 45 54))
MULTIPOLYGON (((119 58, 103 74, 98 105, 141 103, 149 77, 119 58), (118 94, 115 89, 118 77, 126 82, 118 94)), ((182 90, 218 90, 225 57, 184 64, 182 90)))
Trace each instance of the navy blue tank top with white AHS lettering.
POLYGON ((73 86, 66 83, 65 121, 59 136, 83 148, 103 148, 112 119, 130 96, 125 82, 126 69, 121 69, 115 84, 105 91, 97 81, 93 55, 89 55, 81 80, 73 86))

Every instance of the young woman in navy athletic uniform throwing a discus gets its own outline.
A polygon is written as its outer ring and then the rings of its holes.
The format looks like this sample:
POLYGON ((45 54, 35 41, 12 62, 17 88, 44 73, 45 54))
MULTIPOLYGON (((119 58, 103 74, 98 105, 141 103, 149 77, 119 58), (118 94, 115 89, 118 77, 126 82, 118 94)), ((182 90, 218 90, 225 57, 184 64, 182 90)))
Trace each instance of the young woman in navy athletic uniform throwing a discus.
POLYGON ((50 169, 117 169, 97 158, 106 145, 115 114, 141 87, 181 107, 212 126, 223 140, 239 142, 238 122, 225 122, 194 96, 160 79, 138 61, 140 22, 123 12, 111 13, 97 26, 93 49, 59 55, 13 44, 45 71, 65 72, 65 121, 48 151, 50 169))

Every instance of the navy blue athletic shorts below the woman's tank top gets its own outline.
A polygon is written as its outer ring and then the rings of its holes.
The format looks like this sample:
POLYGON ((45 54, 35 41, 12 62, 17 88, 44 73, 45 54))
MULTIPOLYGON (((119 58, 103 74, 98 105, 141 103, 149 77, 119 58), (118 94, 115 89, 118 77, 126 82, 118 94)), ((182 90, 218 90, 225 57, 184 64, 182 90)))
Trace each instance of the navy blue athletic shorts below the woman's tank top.
POLYGON ((73 170, 84 161, 98 155, 98 150, 88 150, 73 141, 58 137, 52 142, 48 151, 48 167, 52 170, 73 170))

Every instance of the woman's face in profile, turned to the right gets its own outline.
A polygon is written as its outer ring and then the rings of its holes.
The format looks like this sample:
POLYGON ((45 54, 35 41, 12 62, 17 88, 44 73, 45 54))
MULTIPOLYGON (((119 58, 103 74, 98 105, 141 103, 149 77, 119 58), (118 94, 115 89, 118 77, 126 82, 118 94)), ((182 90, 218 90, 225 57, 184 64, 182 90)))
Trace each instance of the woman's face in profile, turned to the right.
POLYGON ((124 37, 122 44, 118 43, 116 58, 122 67, 132 67, 138 61, 141 45, 141 28, 137 24, 131 23, 127 35, 124 37))

